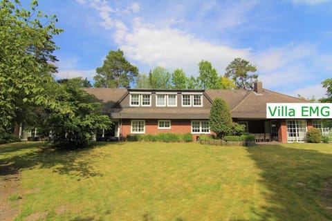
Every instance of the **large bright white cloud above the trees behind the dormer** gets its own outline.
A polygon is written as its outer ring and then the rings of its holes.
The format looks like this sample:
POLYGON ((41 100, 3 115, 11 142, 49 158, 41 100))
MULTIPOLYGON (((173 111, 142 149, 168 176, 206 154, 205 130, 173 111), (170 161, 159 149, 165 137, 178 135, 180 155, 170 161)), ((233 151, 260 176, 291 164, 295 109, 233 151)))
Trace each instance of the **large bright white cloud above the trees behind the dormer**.
POLYGON ((250 49, 217 46, 176 28, 155 28, 136 19, 133 31, 127 32, 120 46, 130 59, 148 64, 151 68, 183 68, 187 75, 197 75, 202 59, 223 74, 234 57, 248 57, 250 49))

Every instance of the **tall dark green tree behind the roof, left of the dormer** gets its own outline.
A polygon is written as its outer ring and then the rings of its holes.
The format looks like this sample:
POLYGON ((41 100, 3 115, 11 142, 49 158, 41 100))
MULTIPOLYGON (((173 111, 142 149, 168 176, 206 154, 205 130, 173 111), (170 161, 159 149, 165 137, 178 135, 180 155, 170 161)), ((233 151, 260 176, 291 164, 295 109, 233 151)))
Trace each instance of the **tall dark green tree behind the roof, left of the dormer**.
POLYGON ((138 76, 138 68, 127 61, 120 49, 110 50, 103 65, 95 71, 96 88, 130 88, 138 76))

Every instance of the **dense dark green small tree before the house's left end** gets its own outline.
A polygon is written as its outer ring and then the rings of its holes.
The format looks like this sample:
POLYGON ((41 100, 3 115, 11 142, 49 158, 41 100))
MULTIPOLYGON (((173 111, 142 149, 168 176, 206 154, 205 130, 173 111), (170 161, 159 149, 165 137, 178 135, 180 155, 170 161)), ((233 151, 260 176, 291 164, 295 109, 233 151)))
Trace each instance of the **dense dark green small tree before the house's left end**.
POLYGON ((56 110, 42 113, 42 131, 51 131, 51 143, 57 148, 75 149, 91 144, 93 133, 108 129, 111 121, 102 115, 101 104, 93 102, 89 95, 77 84, 77 79, 59 81, 56 97, 69 110, 64 114, 56 110))

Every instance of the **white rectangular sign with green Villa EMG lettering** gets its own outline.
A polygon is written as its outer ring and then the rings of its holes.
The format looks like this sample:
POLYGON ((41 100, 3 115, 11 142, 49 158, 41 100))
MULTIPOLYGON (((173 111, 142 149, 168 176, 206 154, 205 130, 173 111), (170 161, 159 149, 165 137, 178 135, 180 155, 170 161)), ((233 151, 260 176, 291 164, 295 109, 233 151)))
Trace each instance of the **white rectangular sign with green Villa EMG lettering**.
POLYGON ((331 103, 267 103, 267 119, 332 118, 331 103))

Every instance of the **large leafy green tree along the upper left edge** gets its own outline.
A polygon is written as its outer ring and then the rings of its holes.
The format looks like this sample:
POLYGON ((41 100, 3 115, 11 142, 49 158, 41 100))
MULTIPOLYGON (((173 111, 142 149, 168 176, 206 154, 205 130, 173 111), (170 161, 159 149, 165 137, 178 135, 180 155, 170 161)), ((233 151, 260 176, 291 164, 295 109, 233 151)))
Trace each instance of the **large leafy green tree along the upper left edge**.
POLYGON ((55 108, 57 102, 46 86, 55 84, 57 49, 53 41, 62 29, 55 15, 45 15, 32 1, 30 10, 19 0, 0 2, 0 128, 26 120, 35 106, 55 108))

